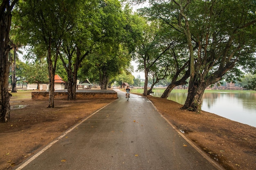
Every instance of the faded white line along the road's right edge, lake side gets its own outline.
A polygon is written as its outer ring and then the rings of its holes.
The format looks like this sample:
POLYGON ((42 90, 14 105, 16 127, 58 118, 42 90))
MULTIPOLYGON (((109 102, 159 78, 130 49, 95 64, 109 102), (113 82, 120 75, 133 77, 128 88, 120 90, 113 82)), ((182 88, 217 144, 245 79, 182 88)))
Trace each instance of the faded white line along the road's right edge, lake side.
MULTIPOLYGON (((147 98, 148 99, 148 98, 147 98)), ((149 100, 149 99, 148 99, 149 100)), ((150 100, 149 100, 150 101, 150 100)), ((150 101, 151 102, 151 101, 150 101)), ((153 104, 153 102, 151 102, 152 105, 155 107, 155 105, 153 104)), ((157 110, 157 112, 161 115, 161 113, 158 111, 158 109, 155 107, 155 109, 157 110)), ((162 116, 162 115, 161 115, 162 116)), ((164 116, 162 116, 162 118, 164 118, 164 120, 166 120, 166 122, 168 124, 170 124, 173 129, 179 133, 180 136, 182 136, 186 142, 188 142, 193 148, 195 148, 195 150, 197 150, 205 159, 207 159, 207 161, 209 161, 215 168, 217 168, 218 170, 224 170, 218 163, 216 163, 215 161, 213 161, 207 154, 205 154, 200 148, 198 148, 195 144, 193 144, 185 135, 183 135, 183 133, 181 133, 175 126, 173 126, 173 124, 171 124, 171 122, 166 119, 164 116)))

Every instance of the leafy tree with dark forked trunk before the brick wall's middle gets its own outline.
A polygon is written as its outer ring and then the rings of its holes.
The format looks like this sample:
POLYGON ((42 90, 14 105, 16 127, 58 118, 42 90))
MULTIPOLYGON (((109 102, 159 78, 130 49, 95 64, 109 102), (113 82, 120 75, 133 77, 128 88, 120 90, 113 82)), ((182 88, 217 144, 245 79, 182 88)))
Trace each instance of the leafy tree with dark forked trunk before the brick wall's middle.
POLYGON ((65 33, 60 59, 67 72, 68 100, 76 96, 77 73, 82 61, 88 57, 94 44, 101 38, 99 20, 101 7, 97 1, 78 1, 70 17, 71 30, 65 33), (79 9, 79 10, 78 10, 79 9), (91 24, 94 23, 94 24, 91 24))

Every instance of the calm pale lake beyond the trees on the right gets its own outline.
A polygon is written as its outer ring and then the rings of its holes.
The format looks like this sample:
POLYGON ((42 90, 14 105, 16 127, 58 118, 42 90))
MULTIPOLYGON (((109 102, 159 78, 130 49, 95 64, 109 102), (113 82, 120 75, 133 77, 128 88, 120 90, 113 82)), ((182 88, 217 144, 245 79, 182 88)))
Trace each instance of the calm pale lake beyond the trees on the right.
MULTIPOLYGON (((151 94, 160 97, 162 92, 151 94)), ((167 99, 184 105, 187 91, 172 91, 167 99)), ((256 127, 255 92, 204 92, 202 110, 256 127)))

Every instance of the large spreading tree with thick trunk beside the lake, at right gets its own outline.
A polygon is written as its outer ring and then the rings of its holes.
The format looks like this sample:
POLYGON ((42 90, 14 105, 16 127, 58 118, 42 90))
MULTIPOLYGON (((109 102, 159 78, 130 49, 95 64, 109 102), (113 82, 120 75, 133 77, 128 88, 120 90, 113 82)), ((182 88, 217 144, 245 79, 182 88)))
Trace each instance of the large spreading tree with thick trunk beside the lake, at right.
POLYGON ((241 65, 252 71, 256 38, 254 1, 150 2, 153 7, 148 16, 162 20, 186 38, 190 81, 183 109, 200 111, 204 89, 228 72, 235 81, 239 71, 236 68, 241 65))

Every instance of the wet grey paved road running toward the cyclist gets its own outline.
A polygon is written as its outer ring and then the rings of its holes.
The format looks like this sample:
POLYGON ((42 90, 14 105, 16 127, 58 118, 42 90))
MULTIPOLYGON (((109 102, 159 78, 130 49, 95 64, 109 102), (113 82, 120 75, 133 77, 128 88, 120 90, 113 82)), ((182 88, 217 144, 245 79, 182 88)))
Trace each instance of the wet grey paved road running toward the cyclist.
POLYGON ((110 103, 23 163, 22 170, 216 170, 142 96, 110 103), (184 146, 187 145, 187 146, 184 146))

